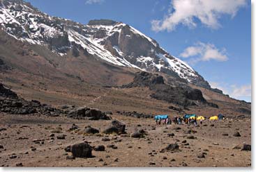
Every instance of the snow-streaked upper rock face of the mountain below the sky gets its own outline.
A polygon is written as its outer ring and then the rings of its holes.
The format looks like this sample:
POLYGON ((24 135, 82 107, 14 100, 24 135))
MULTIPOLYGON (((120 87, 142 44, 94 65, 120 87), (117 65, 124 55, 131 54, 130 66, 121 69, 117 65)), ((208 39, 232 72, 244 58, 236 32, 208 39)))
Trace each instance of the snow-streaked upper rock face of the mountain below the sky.
POLYGON ((3 31, 15 39, 45 46, 61 56, 70 52, 74 58, 93 56, 120 67, 160 71, 211 89, 197 71, 170 55, 156 40, 122 22, 100 19, 84 25, 51 17, 22 0, 2 0, 0 24, 3 31))

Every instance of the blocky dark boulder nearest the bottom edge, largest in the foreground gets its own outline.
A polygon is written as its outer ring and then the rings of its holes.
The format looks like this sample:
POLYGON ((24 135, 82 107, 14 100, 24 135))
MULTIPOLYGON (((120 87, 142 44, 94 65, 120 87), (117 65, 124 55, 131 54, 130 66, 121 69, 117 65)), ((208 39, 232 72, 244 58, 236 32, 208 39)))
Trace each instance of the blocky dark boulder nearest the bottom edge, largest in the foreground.
POLYGON ((74 144, 70 150, 74 157, 92 157, 91 146, 86 142, 74 144))

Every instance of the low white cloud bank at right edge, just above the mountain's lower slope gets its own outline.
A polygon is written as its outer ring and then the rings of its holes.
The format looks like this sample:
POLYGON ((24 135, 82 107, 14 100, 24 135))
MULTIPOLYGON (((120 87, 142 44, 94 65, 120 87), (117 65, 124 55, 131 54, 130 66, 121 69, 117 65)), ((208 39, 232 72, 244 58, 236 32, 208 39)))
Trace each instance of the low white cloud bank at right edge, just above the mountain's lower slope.
POLYGON ((232 98, 236 98, 244 101, 251 101, 252 86, 251 85, 227 85, 225 83, 210 82, 211 87, 218 88, 223 91, 224 94, 228 94, 232 98))

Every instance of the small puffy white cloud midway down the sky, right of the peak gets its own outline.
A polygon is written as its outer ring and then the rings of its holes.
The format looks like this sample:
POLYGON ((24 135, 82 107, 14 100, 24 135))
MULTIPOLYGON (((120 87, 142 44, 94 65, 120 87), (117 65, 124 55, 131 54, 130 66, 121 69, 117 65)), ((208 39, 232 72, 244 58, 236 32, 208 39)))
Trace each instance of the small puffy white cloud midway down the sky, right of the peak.
POLYGON ((181 58, 190 58, 190 64, 199 61, 217 60, 220 62, 227 61, 226 50, 217 49, 214 44, 197 42, 194 46, 188 46, 181 54, 181 58))

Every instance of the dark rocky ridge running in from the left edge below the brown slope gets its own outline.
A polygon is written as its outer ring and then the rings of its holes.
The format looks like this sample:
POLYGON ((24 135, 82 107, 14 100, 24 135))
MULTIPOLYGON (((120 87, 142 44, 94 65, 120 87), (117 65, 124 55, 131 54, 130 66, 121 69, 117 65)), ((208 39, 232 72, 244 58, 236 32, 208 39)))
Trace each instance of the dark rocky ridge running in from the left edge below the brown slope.
POLYGON ((61 108, 41 104, 39 101, 26 101, 10 89, 0 83, 0 112, 8 114, 43 114, 51 117, 60 115, 73 119, 89 120, 109 120, 105 112, 91 109, 89 107, 75 107, 73 105, 63 105, 61 108))

